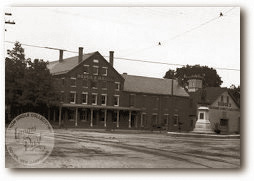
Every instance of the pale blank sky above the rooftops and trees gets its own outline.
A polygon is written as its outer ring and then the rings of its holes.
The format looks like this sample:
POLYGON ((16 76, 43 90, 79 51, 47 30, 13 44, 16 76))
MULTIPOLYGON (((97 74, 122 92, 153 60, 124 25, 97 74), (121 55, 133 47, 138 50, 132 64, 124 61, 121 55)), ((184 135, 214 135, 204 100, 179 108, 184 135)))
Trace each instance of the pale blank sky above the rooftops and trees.
MULTIPOLYGON (((84 47, 84 53, 103 56, 112 50, 119 73, 162 78, 181 66, 118 57, 240 70, 239 7, 13 7, 5 12, 12 13, 5 20, 15 21, 5 26, 5 41, 75 52, 84 47)), ((5 42, 5 52, 12 47, 5 42)), ((57 50, 23 47, 26 58, 59 58, 57 50)), ((64 52, 64 58, 77 55, 64 52)), ((240 85, 240 71, 216 70, 223 87, 240 85)))

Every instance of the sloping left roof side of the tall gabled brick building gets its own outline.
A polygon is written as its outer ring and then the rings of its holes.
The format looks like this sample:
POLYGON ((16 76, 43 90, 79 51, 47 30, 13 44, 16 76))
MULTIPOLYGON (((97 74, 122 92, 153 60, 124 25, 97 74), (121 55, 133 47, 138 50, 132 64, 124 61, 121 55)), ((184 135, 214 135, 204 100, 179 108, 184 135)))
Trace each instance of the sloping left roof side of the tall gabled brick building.
MULTIPOLYGON (((84 60, 88 59, 95 53, 96 52, 84 54, 82 60, 84 61, 84 60)), ((74 67, 76 67, 78 64, 79 64, 78 63, 78 56, 75 56, 75 57, 66 58, 62 62, 59 62, 59 60, 49 62, 48 69, 51 74, 56 75, 56 74, 66 73, 66 72, 70 71, 71 69, 73 69, 74 67)))

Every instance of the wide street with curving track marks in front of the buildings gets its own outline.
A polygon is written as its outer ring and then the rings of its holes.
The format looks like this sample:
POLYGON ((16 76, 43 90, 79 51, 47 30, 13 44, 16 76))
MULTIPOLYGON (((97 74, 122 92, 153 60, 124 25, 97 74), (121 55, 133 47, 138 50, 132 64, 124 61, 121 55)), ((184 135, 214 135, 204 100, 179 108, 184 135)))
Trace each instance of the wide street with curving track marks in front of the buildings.
MULTIPOLYGON (((29 167, 6 151, 6 167, 29 167)), ((166 133, 55 130, 55 147, 39 168, 239 168, 240 139, 166 133)))

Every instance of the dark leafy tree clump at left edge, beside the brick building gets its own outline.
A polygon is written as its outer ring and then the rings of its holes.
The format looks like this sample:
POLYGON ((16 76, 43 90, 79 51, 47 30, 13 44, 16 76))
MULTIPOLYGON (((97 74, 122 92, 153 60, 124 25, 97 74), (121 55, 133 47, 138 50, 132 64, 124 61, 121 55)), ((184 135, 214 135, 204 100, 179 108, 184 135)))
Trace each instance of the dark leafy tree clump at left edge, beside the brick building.
POLYGON ((39 59, 25 59, 24 49, 16 42, 8 50, 5 59, 5 97, 6 106, 11 112, 45 111, 58 103, 52 75, 47 62, 39 59), (21 110, 21 111, 20 111, 21 110))

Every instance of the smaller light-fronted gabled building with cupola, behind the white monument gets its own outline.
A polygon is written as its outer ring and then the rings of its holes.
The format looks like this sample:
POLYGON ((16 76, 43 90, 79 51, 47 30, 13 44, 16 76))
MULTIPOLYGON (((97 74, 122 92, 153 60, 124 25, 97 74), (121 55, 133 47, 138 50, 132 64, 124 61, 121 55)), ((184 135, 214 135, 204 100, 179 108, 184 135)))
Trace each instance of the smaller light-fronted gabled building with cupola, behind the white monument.
POLYGON ((239 134, 240 104, 230 90, 221 87, 202 88, 200 76, 191 77, 189 83, 193 122, 209 120, 212 130, 217 129, 221 134, 239 134))

